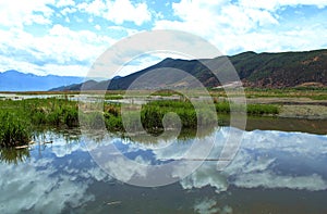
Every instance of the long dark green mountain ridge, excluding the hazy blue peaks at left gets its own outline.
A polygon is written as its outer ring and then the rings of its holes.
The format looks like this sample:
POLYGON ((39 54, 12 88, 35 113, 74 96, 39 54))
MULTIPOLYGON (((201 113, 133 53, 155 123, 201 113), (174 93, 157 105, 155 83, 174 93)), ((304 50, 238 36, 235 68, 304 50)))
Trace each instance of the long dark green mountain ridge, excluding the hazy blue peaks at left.
MULTIPOLYGON (((202 60, 202 62, 217 67, 220 75, 229 78, 228 71, 223 70, 223 59, 218 56, 202 60)), ((327 50, 281 53, 244 52, 228 56, 228 59, 235 67, 244 86, 263 88, 295 87, 306 84, 327 86, 327 50)), ((190 75, 171 75, 172 68, 182 70, 185 74, 191 74, 206 87, 220 85, 219 80, 199 61, 168 58, 125 77, 113 78, 109 86, 107 80, 93 83, 93 86, 87 86, 84 89, 105 89, 106 86, 111 90, 128 89, 131 84, 133 84, 134 88, 146 89, 152 86, 160 86, 164 79, 166 85, 171 87, 190 88, 196 86, 196 81, 194 78, 190 78, 190 75), (146 78, 143 78, 140 83, 134 83, 135 79, 140 79, 143 76, 146 76, 146 78)), ((78 84, 62 87, 60 90, 80 90, 82 84, 78 84)), ((165 86, 162 85, 162 87, 165 86)))

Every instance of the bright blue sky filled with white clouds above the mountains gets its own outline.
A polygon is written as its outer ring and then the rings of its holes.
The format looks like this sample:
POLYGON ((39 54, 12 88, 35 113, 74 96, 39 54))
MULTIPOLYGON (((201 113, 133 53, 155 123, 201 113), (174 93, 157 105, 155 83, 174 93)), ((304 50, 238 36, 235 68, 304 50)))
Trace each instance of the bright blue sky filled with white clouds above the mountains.
POLYGON ((109 47, 154 29, 192 33, 227 55, 327 48, 327 0, 0 0, 0 72, 37 75, 85 76, 109 47))

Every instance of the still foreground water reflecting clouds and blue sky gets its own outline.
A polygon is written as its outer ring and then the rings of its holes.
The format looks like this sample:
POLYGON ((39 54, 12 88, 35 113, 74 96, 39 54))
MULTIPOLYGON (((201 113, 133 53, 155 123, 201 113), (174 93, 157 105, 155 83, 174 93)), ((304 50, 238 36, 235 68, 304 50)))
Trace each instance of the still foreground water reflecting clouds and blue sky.
MULTIPOLYGON (((221 127, 199 141, 223 139, 230 129, 221 127)), ((108 174, 89 150, 112 144, 130 160, 160 164, 181 158, 192 138, 150 142, 53 130, 35 141, 26 150, 1 150, 1 214, 327 213, 326 135, 244 131, 235 158, 222 172, 213 161, 221 152, 217 140, 208 156, 211 161, 161 187, 126 184, 142 174, 140 168, 110 160, 117 167, 108 174)))

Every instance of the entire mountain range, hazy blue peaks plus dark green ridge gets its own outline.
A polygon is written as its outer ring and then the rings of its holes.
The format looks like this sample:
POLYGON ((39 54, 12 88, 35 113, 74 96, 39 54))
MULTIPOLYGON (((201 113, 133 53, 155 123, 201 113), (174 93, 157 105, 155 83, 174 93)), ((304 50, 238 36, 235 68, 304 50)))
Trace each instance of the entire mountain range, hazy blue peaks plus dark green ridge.
POLYGON ((234 66, 240 79, 246 87, 282 88, 302 85, 327 86, 327 49, 255 53, 243 52, 230 56, 218 56, 206 60, 180 60, 167 58, 161 62, 128 76, 117 76, 111 80, 87 80, 76 76, 37 76, 17 71, 0 73, 0 91, 62 91, 62 90, 104 90, 196 87, 198 81, 205 87, 218 87, 219 80, 206 67, 214 67, 220 76, 229 78, 223 70, 228 59, 234 66), (204 64, 203 64, 204 63, 204 64), (211 66, 213 67, 213 66, 211 66), (184 71, 184 74, 174 72, 184 71), (109 84, 110 83, 110 84, 109 84), (84 84, 84 85, 83 85, 84 84))

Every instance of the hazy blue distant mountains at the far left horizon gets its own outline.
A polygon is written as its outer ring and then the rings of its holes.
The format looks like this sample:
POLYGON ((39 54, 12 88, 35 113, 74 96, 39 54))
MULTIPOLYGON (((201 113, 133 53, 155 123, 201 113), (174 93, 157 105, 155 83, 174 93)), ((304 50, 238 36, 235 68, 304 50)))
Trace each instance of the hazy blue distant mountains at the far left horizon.
POLYGON ((11 70, 0 73, 0 91, 47 91, 55 87, 80 84, 83 80, 83 77, 38 76, 11 70))

